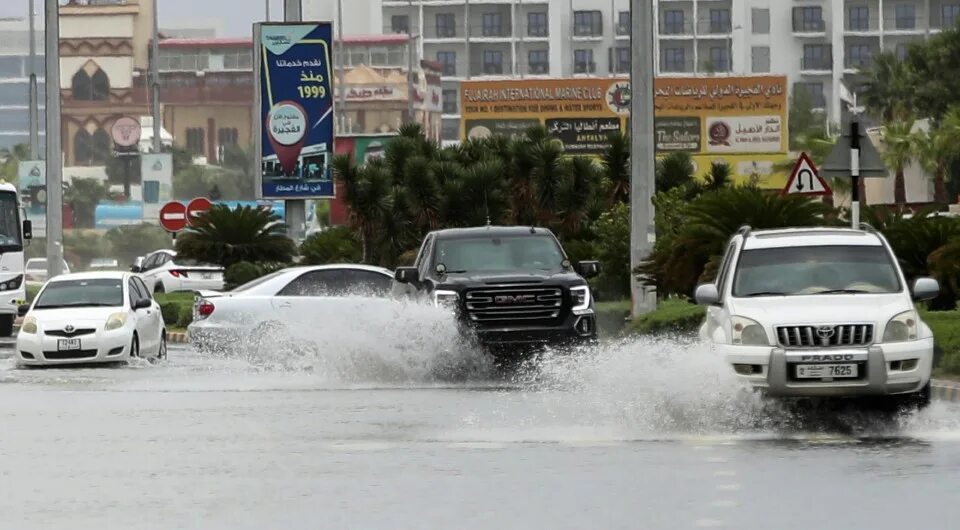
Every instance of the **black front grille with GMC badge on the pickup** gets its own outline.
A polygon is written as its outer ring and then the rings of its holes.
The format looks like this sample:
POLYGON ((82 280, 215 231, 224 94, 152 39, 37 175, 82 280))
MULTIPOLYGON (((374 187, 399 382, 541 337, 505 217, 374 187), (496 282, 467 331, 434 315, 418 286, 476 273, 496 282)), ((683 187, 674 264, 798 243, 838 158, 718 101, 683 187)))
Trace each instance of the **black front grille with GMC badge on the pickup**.
MULTIPOLYGON (((552 321, 560 316, 559 287, 501 287, 467 291, 467 315, 473 322, 552 321)), ((532 323, 532 322, 531 322, 532 323)))

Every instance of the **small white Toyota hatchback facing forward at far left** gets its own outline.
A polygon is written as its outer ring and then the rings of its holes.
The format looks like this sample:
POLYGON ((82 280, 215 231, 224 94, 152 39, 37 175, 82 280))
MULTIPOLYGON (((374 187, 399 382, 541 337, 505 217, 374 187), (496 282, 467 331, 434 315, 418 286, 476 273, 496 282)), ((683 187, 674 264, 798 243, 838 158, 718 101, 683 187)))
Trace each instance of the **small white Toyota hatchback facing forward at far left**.
POLYGON ((64 274, 21 306, 18 366, 125 361, 167 356, 160 306, 127 272, 64 274))

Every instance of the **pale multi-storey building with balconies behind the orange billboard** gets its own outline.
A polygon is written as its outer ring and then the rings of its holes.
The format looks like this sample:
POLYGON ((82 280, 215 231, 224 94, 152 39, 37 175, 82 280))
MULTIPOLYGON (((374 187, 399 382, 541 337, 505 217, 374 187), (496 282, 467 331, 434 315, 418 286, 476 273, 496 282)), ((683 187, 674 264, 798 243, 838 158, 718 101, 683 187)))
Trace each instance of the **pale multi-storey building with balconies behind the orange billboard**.
MULTIPOLYGON (((626 75, 631 51, 657 75, 787 75, 838 121, 843 85, 879 51, 906 53, 960 21, 960 0, 652 0, 653 50, 631 50, 629 0, 343 0, 352 32, 408 33, 443 67, 444 138, 459 134, 465 79, 626 75), (377 11, 379 6, 379 12, 377 11)), ((304 0, 335 20, 336 2, 304 0)))

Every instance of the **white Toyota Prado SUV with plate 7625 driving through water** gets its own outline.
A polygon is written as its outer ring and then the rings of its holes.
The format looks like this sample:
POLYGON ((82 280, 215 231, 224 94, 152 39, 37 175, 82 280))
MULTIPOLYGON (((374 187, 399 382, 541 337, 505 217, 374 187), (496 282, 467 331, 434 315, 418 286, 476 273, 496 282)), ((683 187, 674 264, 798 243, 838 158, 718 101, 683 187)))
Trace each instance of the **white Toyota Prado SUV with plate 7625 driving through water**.
POLYGON ((738 378, 771 397, 930 399, 933 335, 915 303, 936 280, 907 286, 886 239, 861 230, 790 228, 731 238, 707 306, 702 339, 738 378))

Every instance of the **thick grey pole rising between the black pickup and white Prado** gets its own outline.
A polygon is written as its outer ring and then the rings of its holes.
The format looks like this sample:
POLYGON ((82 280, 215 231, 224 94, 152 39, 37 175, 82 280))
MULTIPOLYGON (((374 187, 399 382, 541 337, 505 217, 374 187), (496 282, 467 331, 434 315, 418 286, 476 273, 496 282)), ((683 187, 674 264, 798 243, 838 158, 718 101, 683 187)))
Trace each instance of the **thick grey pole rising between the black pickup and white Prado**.
MULTIPOLYGON (((630 269, 647 260, 653 249, 653 2, 630 1, 630 269)), ((633 316, 653 311, 652 287, 630 275, 633 316)))

